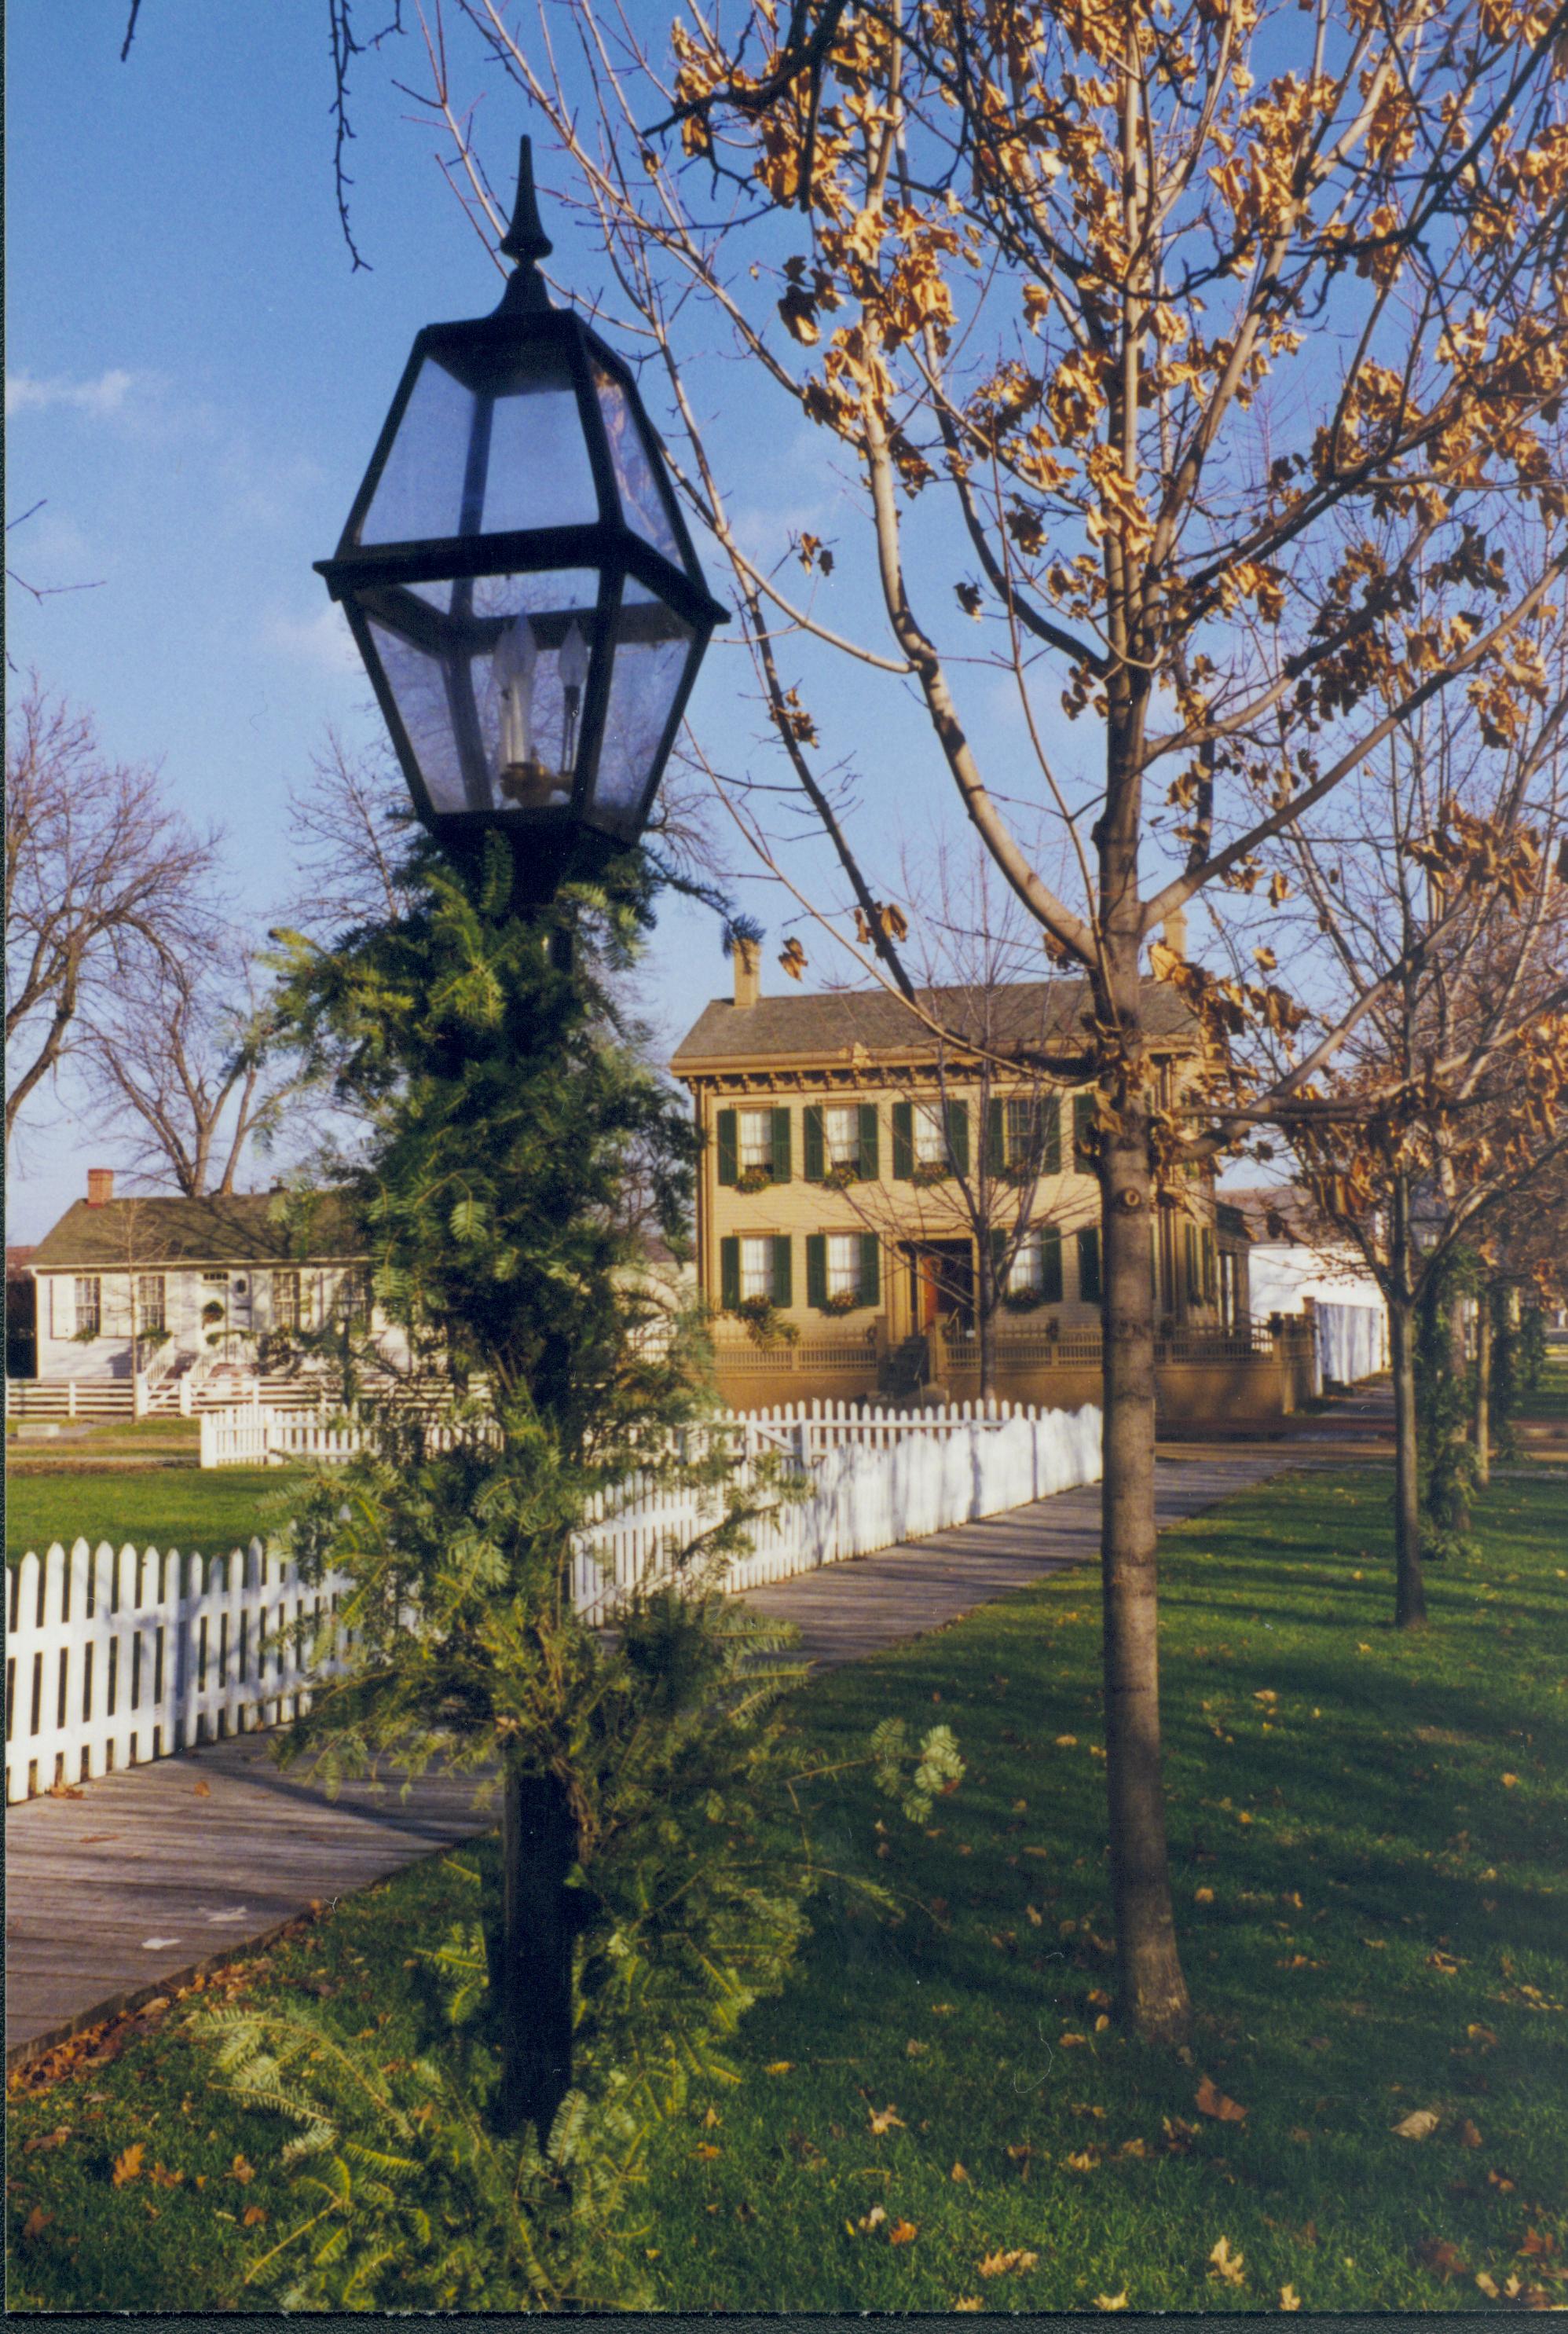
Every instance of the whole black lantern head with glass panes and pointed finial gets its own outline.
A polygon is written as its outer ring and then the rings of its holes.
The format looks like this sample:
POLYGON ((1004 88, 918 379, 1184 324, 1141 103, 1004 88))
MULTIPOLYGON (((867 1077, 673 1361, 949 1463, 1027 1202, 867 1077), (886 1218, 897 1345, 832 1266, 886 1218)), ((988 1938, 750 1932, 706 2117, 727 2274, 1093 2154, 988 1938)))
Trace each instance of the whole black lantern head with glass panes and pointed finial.
POLYGON ((355 495, 343 607, 420 819, 546 899, 635 843, 726 609, 628 366, 537 261, 530 142, 495 315, 427 324, 355 495))

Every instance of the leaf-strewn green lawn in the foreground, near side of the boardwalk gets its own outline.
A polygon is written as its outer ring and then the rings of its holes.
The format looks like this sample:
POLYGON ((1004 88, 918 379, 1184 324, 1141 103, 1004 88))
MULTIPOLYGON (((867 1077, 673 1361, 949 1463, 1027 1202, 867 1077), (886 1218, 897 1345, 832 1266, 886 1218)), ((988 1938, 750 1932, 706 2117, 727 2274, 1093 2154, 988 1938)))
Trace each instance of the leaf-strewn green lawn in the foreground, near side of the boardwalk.
MULTIPOLYGON (((1568 1494, 1503 1482, 1477 1515, 1482 1554, 1430 1568, 1412 1636, 1388 1624, 1384 1470, 1164 1533, 1190 2061, 1104 2024, 1092 1575, 807 1685, 803 1760, 940 1713, 968 1774, 924 1828, 859 1774, 819 1807, 824 1853, 908 1914, 819 1905, 742 2028, 744 2080, 660 2138, 639 2199, 660 2304, 1435 2311, 1491 2306, 1477 2273, 1568 2299, 1568 1494)), ((308 1986, 387 2056, 420 2047, 413 1944, 488 1853, 343 1902, 240 1991, 308 1986)), ((231 2112, 180 2007, 14 2091, 12 2308, 245 2306, 247 2257, 299 2213, 285 2136, 231 2112)))

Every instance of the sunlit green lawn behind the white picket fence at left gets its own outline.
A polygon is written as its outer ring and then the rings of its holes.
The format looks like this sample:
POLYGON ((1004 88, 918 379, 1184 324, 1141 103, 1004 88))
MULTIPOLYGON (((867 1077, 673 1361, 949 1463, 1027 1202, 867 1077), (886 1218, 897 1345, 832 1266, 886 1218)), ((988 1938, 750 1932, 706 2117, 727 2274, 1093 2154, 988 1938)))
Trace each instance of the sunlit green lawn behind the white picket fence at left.
POLYGON ((5 1561, 51 1540, 110 1540, 114 1547, 177 1547, 226 1557, 252 1533, 278 1529, 285 1468, 93 1468, 82 1475, 12 1470, 5 1489, 5 1561))

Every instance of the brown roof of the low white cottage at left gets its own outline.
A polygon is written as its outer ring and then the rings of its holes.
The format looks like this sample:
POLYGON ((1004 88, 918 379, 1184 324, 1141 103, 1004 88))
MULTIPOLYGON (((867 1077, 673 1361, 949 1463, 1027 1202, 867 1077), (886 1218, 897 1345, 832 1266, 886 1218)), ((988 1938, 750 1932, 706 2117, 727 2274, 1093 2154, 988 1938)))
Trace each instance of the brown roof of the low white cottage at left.
POLYGON ((154 1272, 166 1265, 292 1265, 364 1256, 341 1193, 226 1200, 77 1200, 33 1249, 33 1272, 154 1272))

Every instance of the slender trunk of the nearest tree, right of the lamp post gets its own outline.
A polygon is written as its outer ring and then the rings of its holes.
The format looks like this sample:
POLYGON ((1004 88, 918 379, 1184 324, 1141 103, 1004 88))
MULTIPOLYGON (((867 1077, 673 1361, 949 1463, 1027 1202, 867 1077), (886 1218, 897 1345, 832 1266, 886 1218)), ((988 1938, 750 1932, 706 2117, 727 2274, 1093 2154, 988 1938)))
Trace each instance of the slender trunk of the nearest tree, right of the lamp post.
POLYGON ((1120 1132, 1101 1160, 1101 1594, 1118 1993, 1132 2033, 1183 2042, 1192 2007, 1176 1951, 1160 1781, 1153 1176, 1141 1097, 1122 1085, 1113 1106, 1120 1132))

